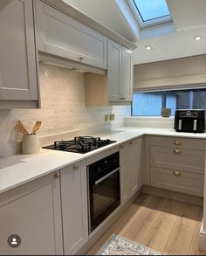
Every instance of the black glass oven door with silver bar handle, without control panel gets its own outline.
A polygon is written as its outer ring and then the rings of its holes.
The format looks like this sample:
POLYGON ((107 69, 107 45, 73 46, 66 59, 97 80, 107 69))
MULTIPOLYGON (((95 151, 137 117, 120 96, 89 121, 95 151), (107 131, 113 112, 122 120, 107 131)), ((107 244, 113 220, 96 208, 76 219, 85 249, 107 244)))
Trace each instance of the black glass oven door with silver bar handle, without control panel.
POLYGON ((98 180, 90 180, 88 189, 91 233, 120 205, 120 167, 98 180))

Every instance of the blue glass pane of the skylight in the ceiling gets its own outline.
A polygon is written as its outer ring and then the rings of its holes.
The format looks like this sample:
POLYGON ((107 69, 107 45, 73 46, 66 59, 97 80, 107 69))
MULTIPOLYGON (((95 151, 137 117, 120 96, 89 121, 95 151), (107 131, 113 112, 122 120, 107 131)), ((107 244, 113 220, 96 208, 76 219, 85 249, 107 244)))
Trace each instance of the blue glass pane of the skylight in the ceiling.
POLYGON ((169 16, 166 0, 133 0, 143 22, 169 16))

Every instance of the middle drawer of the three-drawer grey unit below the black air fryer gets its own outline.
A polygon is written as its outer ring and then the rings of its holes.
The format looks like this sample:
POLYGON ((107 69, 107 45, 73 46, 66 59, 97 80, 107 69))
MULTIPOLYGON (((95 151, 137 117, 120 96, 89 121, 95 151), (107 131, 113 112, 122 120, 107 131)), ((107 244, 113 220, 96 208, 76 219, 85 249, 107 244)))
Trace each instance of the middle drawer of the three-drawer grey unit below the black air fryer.
POLYGON ((200 150, 150 147, 152 166, 204 174, 205 152, 200 150))

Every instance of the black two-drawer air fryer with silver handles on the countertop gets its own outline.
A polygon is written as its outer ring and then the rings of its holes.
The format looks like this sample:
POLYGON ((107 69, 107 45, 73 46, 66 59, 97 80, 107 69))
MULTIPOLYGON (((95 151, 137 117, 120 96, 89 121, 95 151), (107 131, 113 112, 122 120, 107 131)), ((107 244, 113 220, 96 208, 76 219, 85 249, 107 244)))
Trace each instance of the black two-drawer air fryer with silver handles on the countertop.
POLYGON ((204 118, 204 109, 178 109, 175 111, 175 131, 203 133, 204 118))

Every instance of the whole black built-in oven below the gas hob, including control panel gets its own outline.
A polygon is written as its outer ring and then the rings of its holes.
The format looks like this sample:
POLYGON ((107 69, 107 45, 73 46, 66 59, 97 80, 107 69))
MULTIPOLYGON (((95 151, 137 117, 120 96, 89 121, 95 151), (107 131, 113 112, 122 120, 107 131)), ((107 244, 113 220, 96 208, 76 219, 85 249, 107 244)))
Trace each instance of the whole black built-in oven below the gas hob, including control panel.
POLYGON ((89 233, 120 205, 120 153, 87 166, 89 233))

